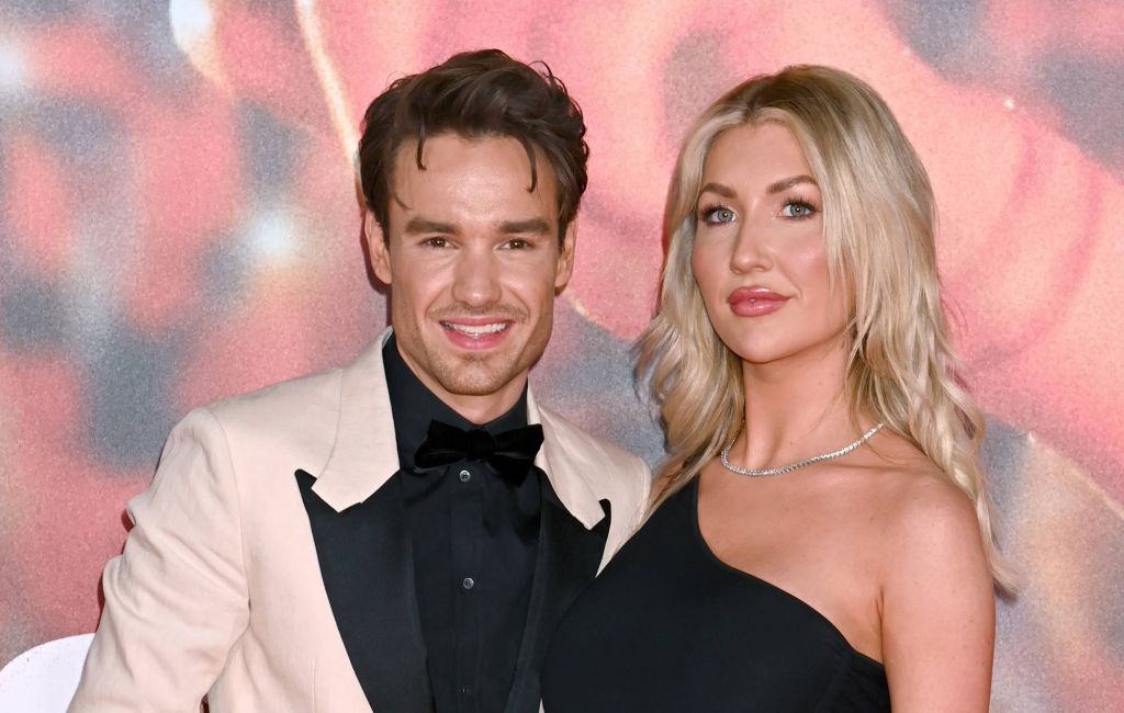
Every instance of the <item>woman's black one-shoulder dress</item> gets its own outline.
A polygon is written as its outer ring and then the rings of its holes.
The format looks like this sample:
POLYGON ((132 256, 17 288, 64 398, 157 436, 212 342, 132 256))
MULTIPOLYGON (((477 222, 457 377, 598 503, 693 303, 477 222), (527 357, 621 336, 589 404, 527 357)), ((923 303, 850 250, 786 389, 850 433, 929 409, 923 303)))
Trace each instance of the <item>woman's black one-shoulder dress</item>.
POLYGON ((698 479, 570 607, 542 680, 546 713, 890 710, 881 664, 803 601, 715 557, 698 479))

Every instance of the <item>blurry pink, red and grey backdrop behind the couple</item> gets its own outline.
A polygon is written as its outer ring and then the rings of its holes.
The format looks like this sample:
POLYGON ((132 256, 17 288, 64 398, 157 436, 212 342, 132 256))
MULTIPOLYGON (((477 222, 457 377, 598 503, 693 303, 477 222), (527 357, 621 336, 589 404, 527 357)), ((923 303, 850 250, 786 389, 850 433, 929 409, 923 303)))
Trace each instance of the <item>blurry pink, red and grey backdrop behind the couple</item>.
POLYGON ((396 77, 542 60, 590 188, 540 400, 653 464, 631 347, 678 144, 792 63, 865 79, 932 175, 1022 570, 994 710, 1124 710, 1124 4, 1109 0, 0 3, 0 665, 92 631, 167 430, 386 323, 353 148, 396 77))

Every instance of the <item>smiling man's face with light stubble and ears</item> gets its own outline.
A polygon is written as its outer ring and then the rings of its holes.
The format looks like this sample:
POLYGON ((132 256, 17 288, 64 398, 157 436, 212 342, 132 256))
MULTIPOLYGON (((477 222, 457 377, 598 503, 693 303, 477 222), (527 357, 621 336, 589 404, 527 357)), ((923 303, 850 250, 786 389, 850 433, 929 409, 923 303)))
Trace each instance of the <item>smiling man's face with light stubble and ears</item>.
POLYGON ((477 423, 509 409, 546 348, 555 293, 573 268, 573 226, 559 249, 558 183, 509 137, 427 138, 395 163, 383 239, 366 218, 375 274, 391 286, 398 348, 422 382, 477 423))

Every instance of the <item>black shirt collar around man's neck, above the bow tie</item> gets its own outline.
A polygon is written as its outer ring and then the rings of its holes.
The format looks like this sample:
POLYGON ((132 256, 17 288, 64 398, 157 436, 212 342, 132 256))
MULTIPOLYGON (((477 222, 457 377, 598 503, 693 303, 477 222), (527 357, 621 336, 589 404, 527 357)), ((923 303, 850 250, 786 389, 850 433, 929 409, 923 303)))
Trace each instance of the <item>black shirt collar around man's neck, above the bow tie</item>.
POLYGON ((493 435, 527 424, 526 386, 523 387, 519 400, 506 413, 480 426, 454 411, 422 383, 398 351, 395 335, 382 347, 382 365, 387 375, 390 412, 395 420, 398 463, 404 470, 414 469, 414 453, 425 440, 429 421, 444 421, 464 430, 482 428, 493 435))

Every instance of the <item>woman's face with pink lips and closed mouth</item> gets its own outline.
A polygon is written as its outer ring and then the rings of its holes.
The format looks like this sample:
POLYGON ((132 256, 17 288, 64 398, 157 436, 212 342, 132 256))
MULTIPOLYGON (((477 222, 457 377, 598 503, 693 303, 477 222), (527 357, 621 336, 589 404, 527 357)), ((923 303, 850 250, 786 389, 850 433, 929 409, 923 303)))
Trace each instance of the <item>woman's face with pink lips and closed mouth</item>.
POLYGON ((842 353, 846 301, 828 289, 823 200, 787 127, 723 132, 697 210, 691 268, 732 351, 749 364, 842 353))

